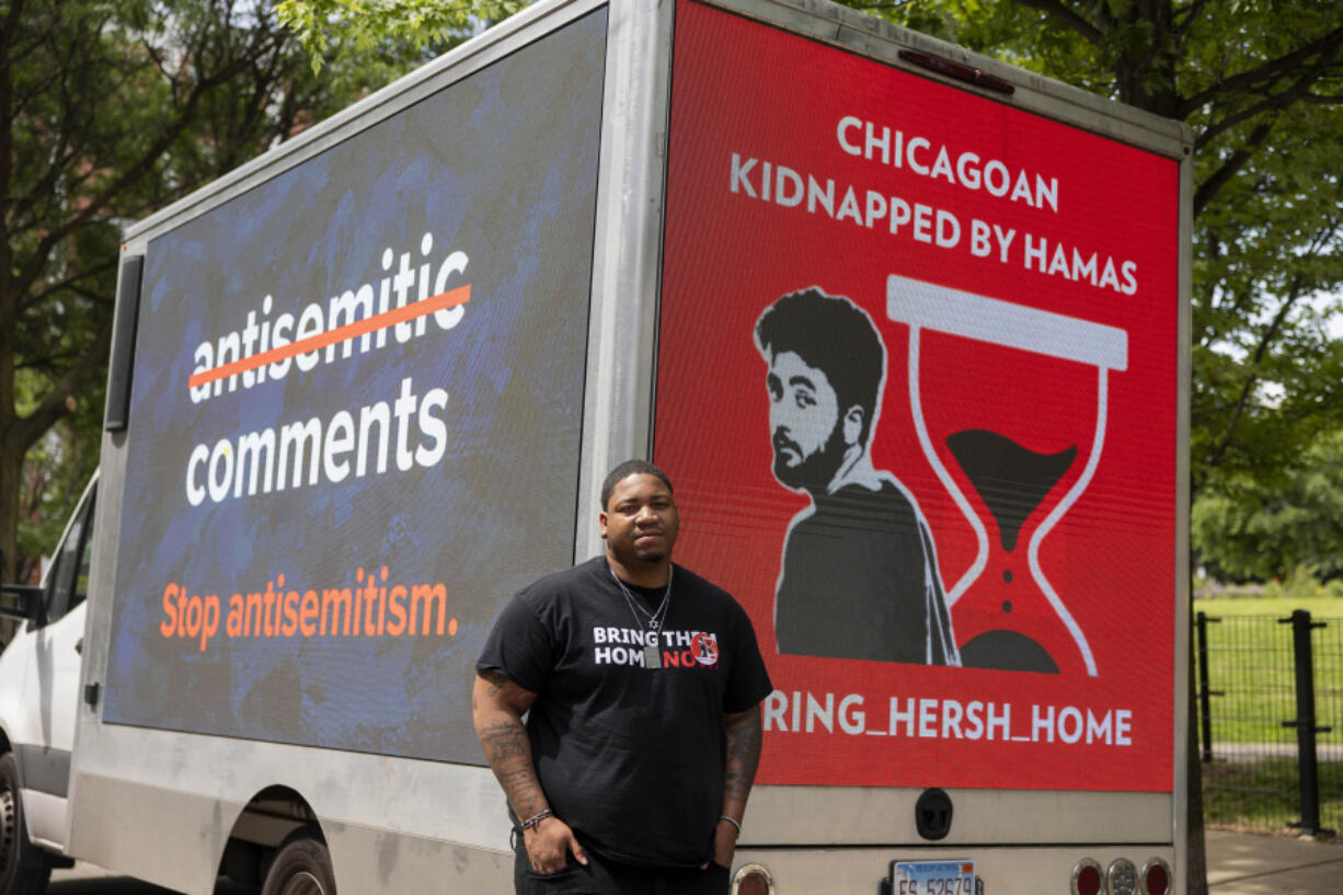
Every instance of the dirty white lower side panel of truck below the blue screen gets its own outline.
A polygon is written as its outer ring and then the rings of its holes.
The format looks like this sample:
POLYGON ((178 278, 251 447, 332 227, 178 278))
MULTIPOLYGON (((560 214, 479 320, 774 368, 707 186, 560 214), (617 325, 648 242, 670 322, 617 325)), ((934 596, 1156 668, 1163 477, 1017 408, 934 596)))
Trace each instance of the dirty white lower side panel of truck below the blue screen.
POLYGON ((488 769, 111 726, 99 747, 81 757, 73 851, 168 888, 212 892, 243 809, 277 783, 320 818, 342 891, 493 891, 512 871, 488 769))

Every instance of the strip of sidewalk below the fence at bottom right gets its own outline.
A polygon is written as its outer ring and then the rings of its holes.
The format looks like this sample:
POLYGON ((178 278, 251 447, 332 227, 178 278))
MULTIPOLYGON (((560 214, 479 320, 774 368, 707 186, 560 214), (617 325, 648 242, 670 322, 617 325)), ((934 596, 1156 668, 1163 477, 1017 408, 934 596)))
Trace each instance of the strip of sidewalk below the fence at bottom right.
POLYGON ((1209 895, 1322 895, 1343 891, 1343 841, 1210 829, 1209 895))

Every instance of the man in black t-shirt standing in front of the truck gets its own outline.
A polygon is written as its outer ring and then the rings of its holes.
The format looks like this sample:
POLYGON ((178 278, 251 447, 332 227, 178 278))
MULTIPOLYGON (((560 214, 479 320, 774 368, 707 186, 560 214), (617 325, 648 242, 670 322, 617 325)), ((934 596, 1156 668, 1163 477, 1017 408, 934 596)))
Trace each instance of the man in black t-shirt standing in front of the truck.
POLYGON ((771 691, 751 620, 672 564, 657 466, 616 466, 599 524, 604 555, 520 591, 475 664, 475 732, 521 830, 514 887, 724 895, 771 691))

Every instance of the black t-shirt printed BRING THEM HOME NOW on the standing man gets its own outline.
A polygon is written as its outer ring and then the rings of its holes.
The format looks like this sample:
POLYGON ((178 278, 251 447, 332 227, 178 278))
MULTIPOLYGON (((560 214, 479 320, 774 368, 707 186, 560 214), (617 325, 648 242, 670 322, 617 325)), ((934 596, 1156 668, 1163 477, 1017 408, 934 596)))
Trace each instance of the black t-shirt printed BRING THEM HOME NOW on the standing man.
POLYGON ((536 773, 584 848, 697 867, 723 812, 723 714, 764 699, 770 676, 741 606, 681 566, 657 632, 661 668, 645 667, 651 637, 598 556, 513 597, 475 668, 537 693, 526 718, 536 773))

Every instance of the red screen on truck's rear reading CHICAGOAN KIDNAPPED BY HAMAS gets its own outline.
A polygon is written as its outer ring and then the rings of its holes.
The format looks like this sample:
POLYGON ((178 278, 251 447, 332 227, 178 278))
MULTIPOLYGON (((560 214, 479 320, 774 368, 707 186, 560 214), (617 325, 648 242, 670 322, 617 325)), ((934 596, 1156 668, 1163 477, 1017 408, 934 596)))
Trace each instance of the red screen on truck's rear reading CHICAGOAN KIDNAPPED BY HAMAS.
POLYGON ((654 460, 759 782, 1172 785, 1179 165, 682 0, 654 460))

